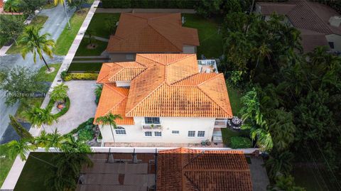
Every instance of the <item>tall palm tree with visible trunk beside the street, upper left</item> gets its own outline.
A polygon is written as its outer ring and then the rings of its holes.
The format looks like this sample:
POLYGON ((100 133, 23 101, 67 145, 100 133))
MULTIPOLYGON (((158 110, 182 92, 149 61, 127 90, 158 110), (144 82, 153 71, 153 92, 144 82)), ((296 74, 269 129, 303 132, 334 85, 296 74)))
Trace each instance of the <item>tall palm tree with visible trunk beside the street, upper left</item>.
MULTIPOLYGON (((41 28, 43 28, 43 26, 28 26, 25 28, 23 35, 19 40, 19 43, 24 45, 21 50, 21 55, 23 56, 23 59, 25 59, 27 53, 33 53, 33 61, 36 63, 36 55, 38 53, 40 60, 43 60, 46 67, 48 67, 46 60, 43 57, 43 53, 50 58, 53 58, 51 48, 55 46, 55 41, 48 39, 48 36, 50 36, 49 33, 40 36, 39 32, 41 28)), ((50 71, 50 67, 48 67, 48 70, 50 71)))

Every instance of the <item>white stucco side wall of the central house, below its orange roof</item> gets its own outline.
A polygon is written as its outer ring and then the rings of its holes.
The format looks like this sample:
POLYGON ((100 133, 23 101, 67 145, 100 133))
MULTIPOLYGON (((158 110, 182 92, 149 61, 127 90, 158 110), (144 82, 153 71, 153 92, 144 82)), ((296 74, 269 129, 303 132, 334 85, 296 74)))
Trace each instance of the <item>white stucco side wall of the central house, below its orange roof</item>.
MULTIPOLYGON (((163 126, 161 137, 144 136, 146 130, 142 129, 144 117, 134 117, 135 125, 121 126, 126 129, 125 135, 117 135, 114 132, 115 142, 135 143, 201 143, 212 139, 215 125, 215 118, 183 118, 183 117, 161 117, 163 126), (172 131, 180 131, 179 134, 172 134, 172 131), (195 137, 188 137, 188 131, 196 131, 195 137), (205 131, 205 137, 197 137, 197 131, 205 131)), ((159 130, 151 130, 159 131, 159 130)), ((101 129, 104 142, 114 142, 109 126, 101 129)))

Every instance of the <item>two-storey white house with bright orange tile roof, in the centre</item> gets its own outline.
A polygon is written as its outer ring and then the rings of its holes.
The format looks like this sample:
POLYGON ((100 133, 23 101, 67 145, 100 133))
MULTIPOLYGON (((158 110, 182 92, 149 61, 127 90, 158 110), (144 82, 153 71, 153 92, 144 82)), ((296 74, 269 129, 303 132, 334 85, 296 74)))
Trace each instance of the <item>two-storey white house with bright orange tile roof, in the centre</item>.
POLYGON ((104 143, 200 143, 226 128, 232 109, 224 75, 200 73, 195 54, 137 54, 134 62, 104 63, 95 118, 119 114, 114 140, 104 143))

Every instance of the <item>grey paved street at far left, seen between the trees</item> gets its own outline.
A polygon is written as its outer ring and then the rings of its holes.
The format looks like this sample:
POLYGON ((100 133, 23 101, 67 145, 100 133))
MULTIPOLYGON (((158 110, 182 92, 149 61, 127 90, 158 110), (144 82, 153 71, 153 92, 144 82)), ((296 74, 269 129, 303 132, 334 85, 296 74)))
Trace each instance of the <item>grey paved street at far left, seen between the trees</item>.
MULTIPOLYGON (((73 14, 73 10, 69 11, 69 16, 71 17, 73 14)), ((48 20, 45 22, 41 33, 50 33, 51 38, 53 40, 57 40, 62 33, 63 29, 67 25, 67 19, 64 13, 63 6, 56 6, 53 9, 44 9, 40 11, 39 15, 48 16, 48 20)), ((45 56, 48 63, 55 63, 55 62, 63 62, 64 56, 55 56, 52 60, 45 56)), ((33 55, 30 53, 26 55, 26 60, 23 60, 20 54, 16 55, 4 55, 0 57, 0 69, 4 67, 13 67, 15 65, 25 65, 28 67, 33 68, 33 70, 37 70, 43 66, 43 61, 37 58, 37 63, 33 62, 33 55)), ((4 92, 0 92, 1 95, 4 92)), ((6 128, 9 124, 9 114, 16 114, 16 110, 18 109, 18 104, 15 104, 13 107, 6 107, 4 104, 4 97, 1 96, 0 98, 0 136, 2 137, 6 128)))

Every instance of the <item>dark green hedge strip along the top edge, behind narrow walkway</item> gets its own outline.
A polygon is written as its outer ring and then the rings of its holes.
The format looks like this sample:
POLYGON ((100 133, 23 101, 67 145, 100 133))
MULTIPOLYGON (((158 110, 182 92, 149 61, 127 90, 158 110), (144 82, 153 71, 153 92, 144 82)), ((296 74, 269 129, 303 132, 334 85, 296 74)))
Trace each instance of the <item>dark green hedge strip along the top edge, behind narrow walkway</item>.
POLYGON ((102 0, 103 8, 194 9, 197 0, 102 0))

